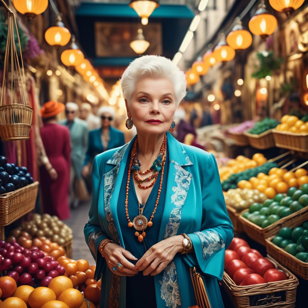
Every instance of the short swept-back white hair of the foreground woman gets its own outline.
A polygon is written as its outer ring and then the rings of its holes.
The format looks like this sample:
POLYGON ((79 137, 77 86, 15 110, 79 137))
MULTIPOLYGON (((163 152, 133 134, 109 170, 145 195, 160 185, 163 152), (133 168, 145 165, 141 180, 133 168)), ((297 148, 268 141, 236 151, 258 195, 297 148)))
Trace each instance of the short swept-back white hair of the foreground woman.
POLYGON ((178 66, 165 57, 145 55, 132 61, 120 79, 124 99, 130 101, 136 82, 145 76, 169 79, 174 85, 176 107, 186 95, 185 73, 178 66))

